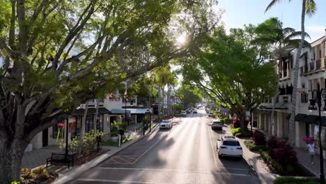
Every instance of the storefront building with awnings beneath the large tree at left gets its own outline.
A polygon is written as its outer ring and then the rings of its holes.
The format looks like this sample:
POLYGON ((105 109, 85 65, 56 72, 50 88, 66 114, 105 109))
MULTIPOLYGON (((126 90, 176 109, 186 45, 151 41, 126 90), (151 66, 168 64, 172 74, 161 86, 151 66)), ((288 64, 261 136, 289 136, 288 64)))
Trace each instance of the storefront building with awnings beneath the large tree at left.
MULTIPOLYGON (((140 111, 135 112, 134 109, 137 109, 137 97, 132 97, 130 100, 125 100, 124 97, 121 98, 121 95, 115 93, 114 95, 107 95, 107 98, 104 100, 89 100, 88 109, 85 121, 85 132, 90 132, 95 128, 105 132, 107 135, 110 135, 111 123, 114 121, 121 122, 125 115, 129 118, 128 123, 137 123, 137 116, 139 120, 140 117, 143 117, 139 114, 140 111), (96 107, 98 105, 98 118, 96 117, 96 107), (135 112, 132 114, 132 112, 135 112)), ((81 104, 75 112, 71 114, 67 119, 63 119, 58 123, 65 123, 65 127, 68 126, 68 139, 73 137, 78 137, 81 130, 81 119, 85 114, 86 104, 81 104)), ((150 109, 141 111, 143 114, 151 113, 150 109)), ((138 120, 138 122, 139 122, 138 120)), ((65 141, 66 128, 64 132, 59 135, 59 128, 57 125, 54 125, 50 128, 39 132, 35 137, 33 137, 31 143, 26 148, 26 151, 31 151, 33 149, 42 148, 48 145, 59 145, 62 141, 65 141)))

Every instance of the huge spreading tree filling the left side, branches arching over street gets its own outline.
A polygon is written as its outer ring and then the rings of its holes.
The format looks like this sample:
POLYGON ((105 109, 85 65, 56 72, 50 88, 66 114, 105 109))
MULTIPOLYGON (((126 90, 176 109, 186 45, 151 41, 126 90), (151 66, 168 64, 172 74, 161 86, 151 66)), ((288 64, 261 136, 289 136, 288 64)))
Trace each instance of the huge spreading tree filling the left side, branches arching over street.
POLYGON ((215 26, 210 3, 0 1, 1 181, 19 180, 27 144, 81 102, 191 52, 215 26), (176 47, 182 29, 190 44, 176 47))

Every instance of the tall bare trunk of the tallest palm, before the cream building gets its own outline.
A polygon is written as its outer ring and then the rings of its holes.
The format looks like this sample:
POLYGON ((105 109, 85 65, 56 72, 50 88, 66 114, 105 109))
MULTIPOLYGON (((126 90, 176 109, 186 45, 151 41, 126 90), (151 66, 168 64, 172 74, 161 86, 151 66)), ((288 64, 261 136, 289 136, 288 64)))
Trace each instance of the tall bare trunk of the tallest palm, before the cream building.
POLYGON ((297 56, 295 56, 295 68, 293 76, 293 93, 291 101, 291 116, 290 116, 290 130, 288 139, 290 144, 295 144, 295 108, 297 104, 297 80, 299 75, 299 62, 301 56, 302 45, 304 43, 304 16, 306 15, 306 0, 302 0, 302 13, 301 13, 301 41, 297 49, 297 56))

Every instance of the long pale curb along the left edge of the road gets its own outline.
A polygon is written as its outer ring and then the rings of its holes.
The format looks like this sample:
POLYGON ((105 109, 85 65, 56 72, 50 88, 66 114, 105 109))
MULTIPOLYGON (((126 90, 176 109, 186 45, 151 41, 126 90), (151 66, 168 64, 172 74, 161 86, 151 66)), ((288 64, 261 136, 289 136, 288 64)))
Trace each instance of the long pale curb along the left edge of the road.
POLYGON ((104 160, 107 160, 108 158, 111 158, 112 156, 116 155, 117 153, 123 151, 125 148, 127 148, 127 147, 131 146, 132 144, 136 143, 137 141, 143 139, 143 137, 146 137, 147 135, 153 134, 153 132, 155 132, 155 130, 158 129, 157 126, 158 126, 158 123, 153 126, 151 132, 149 132, 149 130, 146 131, 145 135, 141 135, 141 137, 138 137, 134 141, 128 142, 127 144, 125 144, 124 147, 120 147, 120 149, 117 149, 116 151, 112 151, 113 153, 109 153, 110 151, 108 151, 107 153, 103 153, 99 157, 94 158, 90 162, 87 162, 85 164, 81 164, 79 167, 76 167, 75 169, 69 171, 68 173, 63 174, 63 176, 61 176, 60 178, 57 178, 55 181, 52 182, 52 184, 68 183, 69 181, 72 181, 73 179, 77 178, 78 176, 80 176, 84 172, 88 171, 88 169, 96 167, 98 164, 100 164, 104 160))

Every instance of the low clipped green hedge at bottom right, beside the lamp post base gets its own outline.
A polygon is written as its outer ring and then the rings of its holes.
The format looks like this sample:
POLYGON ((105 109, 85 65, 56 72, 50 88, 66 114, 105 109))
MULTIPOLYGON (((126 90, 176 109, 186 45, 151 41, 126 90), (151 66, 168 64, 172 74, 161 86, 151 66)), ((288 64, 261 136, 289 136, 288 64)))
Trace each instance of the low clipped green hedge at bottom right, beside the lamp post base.
POLYGON ((318 184, 318 183, 320 183, 320 179, 314 177, 281 176, 276 178, 276 180, 274 180, 274 184, 318 184))

